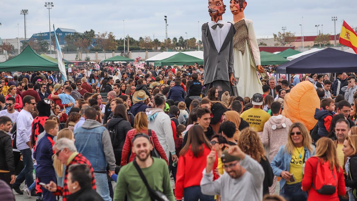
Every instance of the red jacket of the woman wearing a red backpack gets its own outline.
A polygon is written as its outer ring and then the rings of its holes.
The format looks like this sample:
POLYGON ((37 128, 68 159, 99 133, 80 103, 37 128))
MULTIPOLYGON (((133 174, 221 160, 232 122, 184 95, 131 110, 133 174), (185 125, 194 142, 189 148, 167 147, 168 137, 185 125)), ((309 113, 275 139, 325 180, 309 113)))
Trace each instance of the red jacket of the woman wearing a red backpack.
POLYGON ((309 191, 308 201, 323 200, 323 201, 339 201, 338 195, 343 196, 346 194, 345 177, 343 177, 343 170, 340 167, 340 171, 337 172, 337 191, 332 195, 322 195, 318 193, 312 184, 316 182, 316 169, 317 169, 317 157, 311 157, 306 161, 304 177, 302 179, 302 190, 309 191))

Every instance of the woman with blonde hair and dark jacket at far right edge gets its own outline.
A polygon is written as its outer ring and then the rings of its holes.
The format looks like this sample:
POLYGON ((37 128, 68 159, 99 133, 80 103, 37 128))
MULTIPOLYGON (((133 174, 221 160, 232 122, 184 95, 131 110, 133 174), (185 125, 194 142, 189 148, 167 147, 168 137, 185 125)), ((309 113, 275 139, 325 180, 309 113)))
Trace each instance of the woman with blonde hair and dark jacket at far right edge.
MULTIPOLYGON (((354 128, 354 127, 352 127, 354 128)), ((345 165, 346 170, 346 178, 345 183, 346 187, 349 188, 348 195, 350 196, 350 200, 356 199, 356 191, 357 191, 357 136, 347 136, 345 141, 343 142, 343 153, 348 158, 348 161, 345 165)))

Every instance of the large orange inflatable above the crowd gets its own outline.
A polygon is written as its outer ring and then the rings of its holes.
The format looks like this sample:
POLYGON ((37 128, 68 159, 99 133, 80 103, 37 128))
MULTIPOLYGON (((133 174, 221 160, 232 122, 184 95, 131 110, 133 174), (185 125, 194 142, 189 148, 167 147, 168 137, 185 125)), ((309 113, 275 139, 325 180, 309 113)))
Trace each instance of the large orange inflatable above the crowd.
POLYGON ((317 123, 314 118, 316 108, 320 108, 316 89, 311 82, 303 81, 286 94, 282 115, 293 123, 303 123, 308 130, 311 130, 317 123))

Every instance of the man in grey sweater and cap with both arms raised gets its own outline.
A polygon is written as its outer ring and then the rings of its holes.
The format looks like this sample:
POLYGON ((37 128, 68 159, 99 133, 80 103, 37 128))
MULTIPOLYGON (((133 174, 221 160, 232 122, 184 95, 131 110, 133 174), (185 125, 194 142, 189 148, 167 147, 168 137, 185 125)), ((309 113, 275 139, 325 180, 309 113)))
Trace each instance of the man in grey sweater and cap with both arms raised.
POLYGON ((227 174, 213 181, 213 163, 216 151, 212 150, 207 156, 207 165, 203 170, 201 191, 205 195, 221 195, 221 200, 250 200, 263 199, 264 170, 238 146, 230 146, 221 155, 223 168, 227 174))

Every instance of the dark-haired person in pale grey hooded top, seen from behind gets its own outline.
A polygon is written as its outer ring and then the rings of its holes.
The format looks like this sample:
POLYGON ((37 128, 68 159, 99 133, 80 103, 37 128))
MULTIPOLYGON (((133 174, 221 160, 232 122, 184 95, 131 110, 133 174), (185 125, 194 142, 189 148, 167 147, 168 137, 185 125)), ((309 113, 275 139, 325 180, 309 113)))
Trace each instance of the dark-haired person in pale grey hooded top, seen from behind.
MULTIPOLYGON (((171 72, 172 73, 172 72, 171 72)), ((163 94, 156 94, 154 97, 154 108, 147 108, 146 114, 149 119, 148 128, 155 131, 159 142, 166 153, 166 157, 172 155, 172 161, 178 158, 175 151, 175 142, 172 135, 171 119, 164 112, 166 97, 163 94)))

